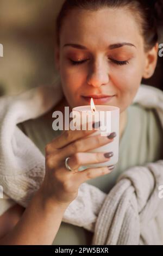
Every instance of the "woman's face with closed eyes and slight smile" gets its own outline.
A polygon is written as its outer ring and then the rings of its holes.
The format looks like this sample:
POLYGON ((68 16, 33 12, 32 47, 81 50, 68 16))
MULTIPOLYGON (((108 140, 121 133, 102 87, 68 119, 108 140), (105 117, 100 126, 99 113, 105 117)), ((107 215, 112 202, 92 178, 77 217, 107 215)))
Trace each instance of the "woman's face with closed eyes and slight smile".
POLYGON ((125 9, 72 10, 60 34, 57 66, 70 107, 112 105, 121 113, 139 89, 146 66, 143 37, 125 9))

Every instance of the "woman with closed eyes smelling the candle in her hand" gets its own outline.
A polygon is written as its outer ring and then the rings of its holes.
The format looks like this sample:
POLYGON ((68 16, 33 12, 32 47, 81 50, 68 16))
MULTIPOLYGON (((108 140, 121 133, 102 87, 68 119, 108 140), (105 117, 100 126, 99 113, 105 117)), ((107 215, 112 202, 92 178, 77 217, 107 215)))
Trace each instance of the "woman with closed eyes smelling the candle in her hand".
POLYGON ((56 45, 65 97, 47 114, 19 125, 45 154, 45 179, 26 210, 14 205, 3 211, 1 244, 89 245, 92 233, 61 223, 80 184, 89 182, 108 193, 127 168, 161 158, 162 130, 155 111, 131 105, 142 77, 151 77, 157 63, 158 1, 152 2, 65 1, 57 20, 56 45), (86 152, 112 142, 115 134, 90 140, 86 136, 93 131, 58 136, 52 130, 54 111, 87 105, 90 97, 95 104, 118 106, 121 111, 120 160, 111 174, 113 167, 77 170, 83 164, 108 161, 110 154, 86 152), (65 168, 67 156, 73 172, 65 168))

